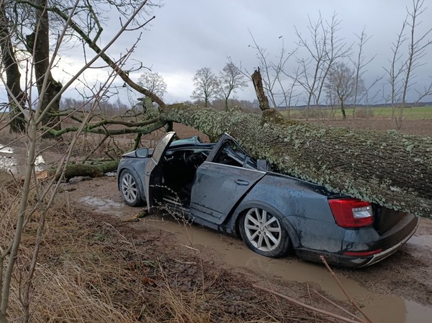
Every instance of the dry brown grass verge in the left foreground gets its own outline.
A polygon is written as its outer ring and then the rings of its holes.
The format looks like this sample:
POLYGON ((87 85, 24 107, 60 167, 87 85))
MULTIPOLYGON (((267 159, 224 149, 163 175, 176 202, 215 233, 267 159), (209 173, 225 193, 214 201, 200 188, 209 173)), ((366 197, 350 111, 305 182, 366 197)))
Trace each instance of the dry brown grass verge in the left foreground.
MULTIPOLYGON (((10 233, 0 236, 3 248, 11 238, 20 190, 10 176, 2 174, 0 180, 0 230, 10 233)), ((38 220, 36 213, 23 236, 8 309, 11 320, 23 313, 20 287, 38 220)), ((205 262, 196 249, 113 221, 74 208, 62 193, 58 195, 47 215, 32 279, 32 322, 315 320, 303 309, 254 291, 252 282, 242 275, 205 262)))

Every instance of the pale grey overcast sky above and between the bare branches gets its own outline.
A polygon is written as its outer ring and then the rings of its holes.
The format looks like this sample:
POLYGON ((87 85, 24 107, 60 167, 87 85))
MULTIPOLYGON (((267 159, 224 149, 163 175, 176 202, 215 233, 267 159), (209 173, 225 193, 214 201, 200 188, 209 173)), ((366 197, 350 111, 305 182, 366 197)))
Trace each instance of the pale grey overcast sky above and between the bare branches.
MULTIPOLYGON (((425 5, 430 8, 421 17, 419 32, 432 28, 432 0, 425 0, 425 5)), ((163 0, 162 8, 154 10, 156 19, 143 32, 132 59, 141 61, 164 77, 167 103, 185 101, 190 99, 192 77, 199 68, 207 66, 217 74, 227 63, 227 57, 231 57, 234 63, 241 63, 253 72, 258 60, 250 47, 251 34, 259 46, 266 48, 268 58, 274 59, 282 43, 288 51, 297 47, 294 26, 306 36, 308 19, 317 21, 321 13, 323 19, 330 20, 336 13, 341 20, 339 37, 346 43, 355 43, 355 34, 359 35, 363 29, 371 36, 364 54, 366 58, 377 56, 367 68, 364 77, 367 83, 378 75, 384 75, 382 67, 388 66, 391 43, 400 31, 406 6, 412 6, 412 0, 163 0)), ((116 32, 118 26, 119 19, 111 17, 104 27, 104 39, 116 32)), ((111 57, 124 53, 137 36, 135 31, 122 37, 109 50, 111 57)), ((104 43, 100 45, 103 47, 104 43)), ((356 50, 354 46, 353 52, 356 50)), ((82 53, 75 57, 73 50, 62 52, 62 69, 72 68, 80 57, 82 53)), ((429 57, 432 57, 432 48, 429 57)), ((427 64, 417 70, 417 83, 424 84, 432 75, 431 64, 424 62, 427 64)), ((295 66, 293 58, 288 69, 294 70, 295 66)), ((92 72, 94 78, 102 80, 106 77, 106 72, 92 72)), ((59 73, 55 75, 60 81, 65 80, 59 73)), ((137 80, 139 75, 140 72, 131 77, 137 80)), ((68 91, 66 96, 73 96, 73 92, 68 91)), ((255 98, 252 84, 238 92, 236 98, 252 101, 255 98)))

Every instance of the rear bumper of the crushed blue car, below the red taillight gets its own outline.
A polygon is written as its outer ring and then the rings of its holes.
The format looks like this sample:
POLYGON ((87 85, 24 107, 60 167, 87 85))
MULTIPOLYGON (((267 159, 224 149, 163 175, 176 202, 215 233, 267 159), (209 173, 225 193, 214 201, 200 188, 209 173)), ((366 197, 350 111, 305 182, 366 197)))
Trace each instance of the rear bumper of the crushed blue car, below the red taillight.
MULTIPOLYGON (((372 264, 376 264, 386 257, 393 255, 398 251, 410 237, 413 236, 417 230, 419 219, 417 217, 411 217, 402 221, 397 228, 389 231, 382 236, 373 236, 370 233, 361 235, 361 232, 355 236, 355 239, 345 239, 343 242, 344 248, 342 251, 337 253, 331 253, 328 251, 317 251, 306 248, 296 249, 295 252, 303 260, 310 260, 314 262, 321 262, 320 256, 323 255, 329 264, 335 266, 344 267, 365 267, 372 264), (409 220, 409 221, 408 221, 409 220), (363 239, 364 238, 364 239, 363 239), (379 250, 374 255, 368 256, 355 256, 355 255, 344 255, 344 251, 353 251, 353 248, 347 249, 346 246, 355 246, 355 250, 362 251, 373 251, 379 250)), ((376 232, 376 231, 375 231, 376 232)), ((349 236, 349 234, 347 234, 349 236)))

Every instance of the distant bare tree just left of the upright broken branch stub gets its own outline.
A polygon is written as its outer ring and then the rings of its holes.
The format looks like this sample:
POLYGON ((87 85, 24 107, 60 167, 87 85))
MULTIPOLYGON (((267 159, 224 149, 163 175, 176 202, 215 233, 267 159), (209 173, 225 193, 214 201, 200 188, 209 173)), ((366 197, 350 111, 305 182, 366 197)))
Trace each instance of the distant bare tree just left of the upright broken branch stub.
POLYGON ((225 110, 228 110, 228 99, 237 90, 247 87, 245 75, 236 68, 234 63, 227 63, 219 73, 220 97, 225 101, 225 110))

